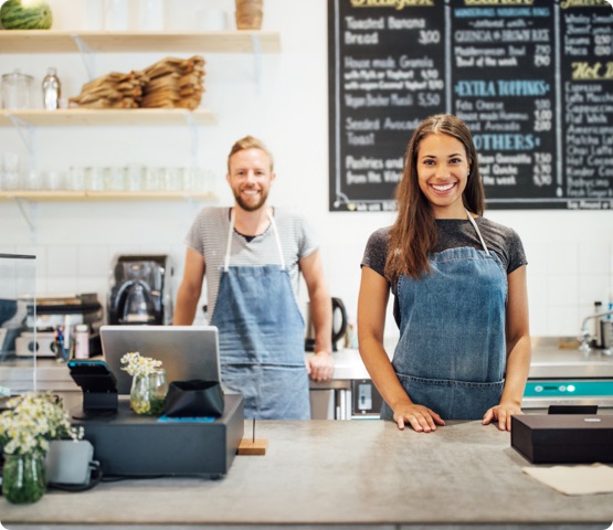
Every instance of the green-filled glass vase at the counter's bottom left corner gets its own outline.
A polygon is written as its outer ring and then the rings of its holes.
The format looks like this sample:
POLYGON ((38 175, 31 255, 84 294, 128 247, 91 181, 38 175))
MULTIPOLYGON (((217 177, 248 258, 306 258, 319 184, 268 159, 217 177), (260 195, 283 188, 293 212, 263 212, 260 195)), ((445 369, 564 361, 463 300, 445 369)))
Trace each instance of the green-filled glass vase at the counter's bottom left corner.
POLYGON ((4 454, 2 495, 9 502, 13 505, 36 502, 44 495, 45 489, 44 455, 40 453, 4 454))

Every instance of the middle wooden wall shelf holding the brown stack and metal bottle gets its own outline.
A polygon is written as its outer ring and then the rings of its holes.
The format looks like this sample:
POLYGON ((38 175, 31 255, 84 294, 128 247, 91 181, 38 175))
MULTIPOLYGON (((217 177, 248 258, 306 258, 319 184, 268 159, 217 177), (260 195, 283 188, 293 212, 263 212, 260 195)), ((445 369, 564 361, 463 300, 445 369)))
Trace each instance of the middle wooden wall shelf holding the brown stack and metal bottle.
POLYGON ((98 125, 214 125, 213 114, 208 109, 184 108, 68 108, 57 110, 0 110, 0 126, 32 125, 98 126, 98 125), (17 124, 11 117, 17 118, 17 124))

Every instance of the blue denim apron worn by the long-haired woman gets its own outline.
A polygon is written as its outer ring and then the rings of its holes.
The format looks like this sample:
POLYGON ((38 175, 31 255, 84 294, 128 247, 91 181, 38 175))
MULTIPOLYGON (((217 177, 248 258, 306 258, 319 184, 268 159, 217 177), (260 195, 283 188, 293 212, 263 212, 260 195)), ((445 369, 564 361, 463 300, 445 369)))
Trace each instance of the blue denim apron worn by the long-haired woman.
MULTIPOLYGON (((419 280, 398 284, 400 339, 392 365, 413 403, 443 420, 479 420, 503 395, 507 275, 483 245, 431 255, 432 267, 419 280)), ((393 411, 383 403, 383 420, 393 411)))

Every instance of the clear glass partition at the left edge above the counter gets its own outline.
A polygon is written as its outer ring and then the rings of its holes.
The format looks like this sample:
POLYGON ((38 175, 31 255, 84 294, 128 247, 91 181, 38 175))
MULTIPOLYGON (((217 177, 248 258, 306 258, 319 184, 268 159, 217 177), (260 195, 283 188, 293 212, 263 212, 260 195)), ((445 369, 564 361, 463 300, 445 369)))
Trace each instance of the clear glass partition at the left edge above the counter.
POLYGON ((36 256, 0 254, 0 393, 36 391, 36 256))

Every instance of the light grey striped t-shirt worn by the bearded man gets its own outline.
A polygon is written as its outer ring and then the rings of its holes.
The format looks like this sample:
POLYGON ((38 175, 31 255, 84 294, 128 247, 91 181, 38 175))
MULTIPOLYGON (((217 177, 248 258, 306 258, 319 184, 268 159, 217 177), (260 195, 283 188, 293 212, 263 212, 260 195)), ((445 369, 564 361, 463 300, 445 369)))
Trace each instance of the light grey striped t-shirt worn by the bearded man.
MULTIPOLYGON (((318 248, 318 242, 313 227, 304 215, 275 208, 274 219, 285 258, 285 266, 289 271, 292 289, 297 301, 299 284, 298 261, 313 254, 318 248)), ((229 230, 230 208, 204 208, 195 218, 186 237, 186 244, 199 254, 202 254, 207 265, 207 318, 209 320, 215 308, 229 230)), ((232 265, 281 265, 281 257, 272 225, 263 234, 255 236, 250 242, 234 231, 230 251, 230 266, 232 265)))

